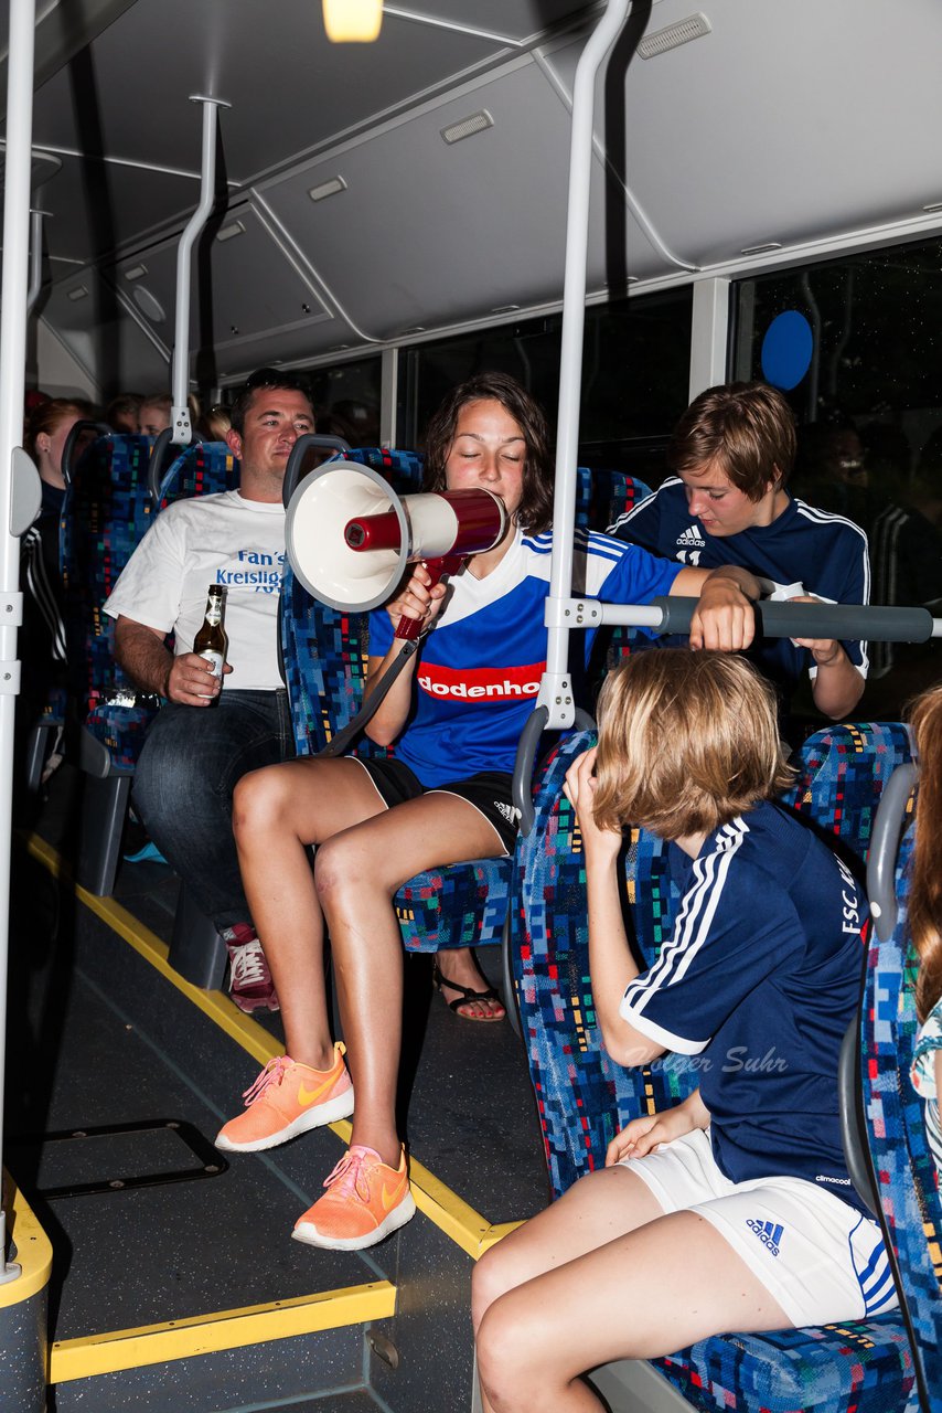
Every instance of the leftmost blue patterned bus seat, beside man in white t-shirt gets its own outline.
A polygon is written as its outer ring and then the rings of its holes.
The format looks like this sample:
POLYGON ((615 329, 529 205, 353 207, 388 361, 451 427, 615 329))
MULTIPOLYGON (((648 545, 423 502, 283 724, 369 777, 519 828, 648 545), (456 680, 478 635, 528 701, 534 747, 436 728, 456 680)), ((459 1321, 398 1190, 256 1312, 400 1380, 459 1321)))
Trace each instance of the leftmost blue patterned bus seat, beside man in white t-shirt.
POLYGON ((76 880, 97 896, 114 885, 131 774, 158 705, 114 661, 114 623, 102 610, 155 513, 148 459, 147 437, 100 437, 75 466, 62 506, 66 660, 85 773, 76 880))

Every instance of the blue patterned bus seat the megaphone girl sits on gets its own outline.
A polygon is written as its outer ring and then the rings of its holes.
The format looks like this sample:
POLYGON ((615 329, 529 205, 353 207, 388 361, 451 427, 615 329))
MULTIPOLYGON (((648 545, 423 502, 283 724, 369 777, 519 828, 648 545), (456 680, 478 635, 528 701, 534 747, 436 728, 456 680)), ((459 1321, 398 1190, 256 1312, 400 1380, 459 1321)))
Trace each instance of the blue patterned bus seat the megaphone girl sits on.
MULTIPOLYGON (((415 452, 354 449, 347 455, 386 476, 398 495, 422 489, 415 452)), ((290 473, 288 473, 290 475, 290 473)), ((290 497, 291 487, 285 486, 290 497)), ((285 564, 281 650, 298 755, 316 755, 356 715, 363 701, 369 615, 318 603, 285 564)), ((357 755, 380 747, 362 738, 357 755)), ((507 916, 510 859, 476 859, 410 879, 394 906, 408 951, 499 942, 507 916)))

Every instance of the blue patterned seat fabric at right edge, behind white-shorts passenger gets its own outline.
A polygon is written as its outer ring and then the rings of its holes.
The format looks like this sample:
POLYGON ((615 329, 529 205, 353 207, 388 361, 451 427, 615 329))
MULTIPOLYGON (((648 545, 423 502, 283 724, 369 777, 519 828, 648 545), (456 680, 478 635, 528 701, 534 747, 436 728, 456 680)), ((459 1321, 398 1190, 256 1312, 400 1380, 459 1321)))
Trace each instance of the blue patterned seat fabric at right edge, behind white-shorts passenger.
POLYGON ((942 1201, 922 1101, 910 1081, 918 1030, 917 957, 907 926, 915 828, 918 822, 902 836, 897 859, 893 935, 881 942, 876 928, 870 934, 860 1072, 880 1205, 893 1231, 931 1410, 942 1413, 942 1201))

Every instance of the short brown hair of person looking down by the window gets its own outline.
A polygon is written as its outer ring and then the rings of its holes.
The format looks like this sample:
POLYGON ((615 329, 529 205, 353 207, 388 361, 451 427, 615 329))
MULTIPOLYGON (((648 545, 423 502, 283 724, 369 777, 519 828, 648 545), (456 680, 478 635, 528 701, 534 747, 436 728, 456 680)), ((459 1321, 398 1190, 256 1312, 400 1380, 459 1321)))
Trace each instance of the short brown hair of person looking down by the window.
POLYGON ((674 430, 667 461, 678 475, 716 462, 750 500, 778 487, 795 465, 795 417, 777 387, 725 383, 695 397, 674 430))

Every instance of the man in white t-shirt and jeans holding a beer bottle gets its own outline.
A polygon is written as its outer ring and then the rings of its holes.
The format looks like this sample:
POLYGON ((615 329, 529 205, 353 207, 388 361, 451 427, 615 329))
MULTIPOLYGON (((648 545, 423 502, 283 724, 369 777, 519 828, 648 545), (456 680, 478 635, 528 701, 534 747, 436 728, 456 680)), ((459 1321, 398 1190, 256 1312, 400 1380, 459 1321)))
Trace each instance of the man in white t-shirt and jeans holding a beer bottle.
POLYGON ((278 668, 281 485, 295 441, 314 431, 314 411, 301 379, 261 369, 230 415, 239 490, 161 512, 105 612, 117 620, 114 654, 124 671, 165 698, 134 774, 134 808, 225 938, 233 1000, 251 1012, 275 1010, 278 999, 242 887, 232 793, 250 770, 294 755, 278 668), (226 589, 222 680, 192 651, 212 584, 226 589))

